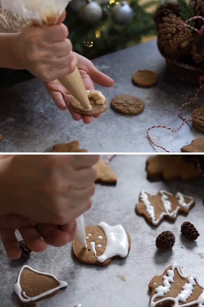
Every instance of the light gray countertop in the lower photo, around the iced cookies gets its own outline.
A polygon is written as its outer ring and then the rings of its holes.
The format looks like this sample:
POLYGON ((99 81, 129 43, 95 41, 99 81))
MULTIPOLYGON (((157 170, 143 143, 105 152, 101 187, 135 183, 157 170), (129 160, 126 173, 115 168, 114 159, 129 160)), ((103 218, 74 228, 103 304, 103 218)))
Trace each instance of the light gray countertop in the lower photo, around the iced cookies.
POLYGON ((183 267, 185 275, 198 275, 200 283, 204 285, 203 179, 192 183, 150 183, 146 179, 146 157, 114 157, 110 165, 117 174, 117 185, 97 185, 92 208, 84 216, 87 225, 101 221, 109 225, 121 223, 132 240, 128 257, 112 260, 104 268, 86 266, 72 258, 69 243, 62 248, 48 247, 40 254, 32 253, 28 261, 9 261, 0 242, 2 307, 19 307, 13 287, 24 264, 55 274, 68 283, 66 290, 39 302, 37 307, 72 307, 79 303, 83 307, 148 307, 148 283, 154 275, 162 274, 173 261, 183 267), (187 217, 179 215, 175 223, 164 221, 158 228, 153 228, 134 211, 142 189, 153 194, 161 189, 172 193, 180 191, 194 197, 196 205, 187 217), (198 229, 200 236, 197 241, 189 242, 180 236, 180 226, 184 221, 190 221, 198 229), (174 233, 176 243, 172 251, 159 253, 155 247, 155 239, 161 231, 166 230, 174 233))

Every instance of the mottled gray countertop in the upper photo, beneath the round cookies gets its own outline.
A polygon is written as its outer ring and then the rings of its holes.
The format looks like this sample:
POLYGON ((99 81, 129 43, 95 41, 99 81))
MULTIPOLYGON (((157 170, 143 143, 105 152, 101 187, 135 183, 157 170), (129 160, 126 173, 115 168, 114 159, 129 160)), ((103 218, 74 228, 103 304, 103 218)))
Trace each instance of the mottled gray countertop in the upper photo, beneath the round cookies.
MULTIPOLYGON (((178 109, 195 96, 195 87, 186 85, 166 71, 165 60, 159 54, 156 41, 131 47, 103 56, 93 61, 96 67, 115 80, 113 88, 101 88, 110 102, 117 94, 131 94, 142 98, 145 110, 138 116, 124 116, 110 106, 99 119, 90 125, 74 122, 68 111, 57 109, 39 80, 30 80, 0 90, 0 143, 1 152, 43 152, 56 143, 79 140, 81 148, 88 152, 155 152, 146 137, 153 125, 180 126, 178 109), (132 84, 132 74, 138 69, 152 69, 159 75, 159 82, 151 88, 139 88, 132 84)), ((199 103, 201 103, 201 98, 199 103)), ((197 105, 198 105, 197 104, 197 105)), ((193 107, 184 110, 191 116, 193 107)), ((178 133, 166 129, 150 132, 159 145, 169 150, 191 143, 202 137, 190 124, 178 133)))

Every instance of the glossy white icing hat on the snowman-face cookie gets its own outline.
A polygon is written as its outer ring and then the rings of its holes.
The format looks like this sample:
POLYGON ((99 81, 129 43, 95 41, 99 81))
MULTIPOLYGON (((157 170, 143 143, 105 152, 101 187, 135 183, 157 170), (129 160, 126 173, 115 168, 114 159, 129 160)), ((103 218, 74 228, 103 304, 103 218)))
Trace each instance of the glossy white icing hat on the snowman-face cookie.
POLYGON ((97 260, 104 262, 114 256, 126 257, 128 255, 128 236, 122 225, 109 226, 105 222, 98 224, 106 235, 106 249, 103 255, 99 256, 97 260))

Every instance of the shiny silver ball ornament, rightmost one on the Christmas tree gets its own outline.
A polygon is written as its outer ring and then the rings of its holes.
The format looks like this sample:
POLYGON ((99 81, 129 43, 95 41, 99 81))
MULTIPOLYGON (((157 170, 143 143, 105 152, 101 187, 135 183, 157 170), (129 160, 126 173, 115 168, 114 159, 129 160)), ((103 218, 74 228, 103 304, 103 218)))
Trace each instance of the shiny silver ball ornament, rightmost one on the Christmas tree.
POLYGON ((132 21, 133 11, 126 1, 113 7, 111 17, 117 25, 128 25, 132 21))

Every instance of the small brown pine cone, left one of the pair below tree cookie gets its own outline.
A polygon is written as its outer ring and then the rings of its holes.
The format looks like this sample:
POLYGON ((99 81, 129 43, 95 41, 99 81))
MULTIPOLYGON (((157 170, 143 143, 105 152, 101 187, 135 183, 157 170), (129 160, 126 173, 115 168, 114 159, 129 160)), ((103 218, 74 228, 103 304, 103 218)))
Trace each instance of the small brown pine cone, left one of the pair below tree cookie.
POLYGON ((169 251, 175 244, 175 236, 171 231, 163 231, 156 239, 156 247, 159 251, 169 251))

